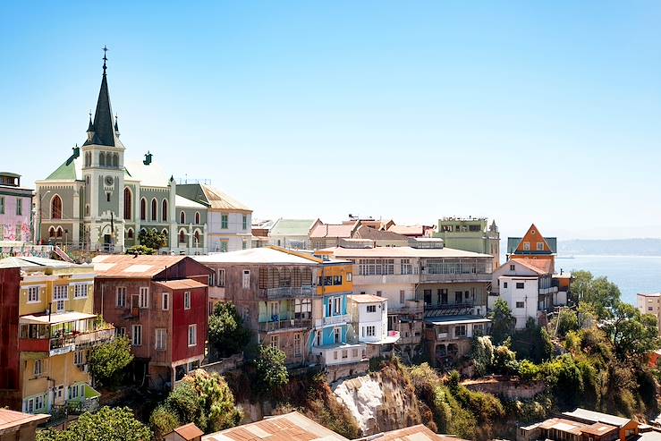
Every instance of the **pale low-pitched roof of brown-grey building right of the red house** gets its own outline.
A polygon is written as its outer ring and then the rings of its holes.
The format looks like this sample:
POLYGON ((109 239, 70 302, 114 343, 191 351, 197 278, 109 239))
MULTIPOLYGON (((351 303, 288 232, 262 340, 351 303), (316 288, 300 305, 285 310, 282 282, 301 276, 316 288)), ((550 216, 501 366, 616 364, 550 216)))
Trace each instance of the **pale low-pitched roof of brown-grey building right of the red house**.
POLYGON ((275 247, 249 248, 231 252, 220 252, 208 256, 193 256, 200 263, 255 263, 284 265, 318 265, 321 259, 278 249, 275 247))

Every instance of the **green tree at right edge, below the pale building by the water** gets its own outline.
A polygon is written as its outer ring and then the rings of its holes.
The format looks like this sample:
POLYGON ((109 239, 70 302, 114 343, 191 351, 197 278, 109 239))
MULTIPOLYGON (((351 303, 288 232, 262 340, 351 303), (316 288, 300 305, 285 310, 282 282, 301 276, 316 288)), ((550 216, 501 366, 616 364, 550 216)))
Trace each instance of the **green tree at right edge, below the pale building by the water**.
POLYGON ((620 360, 643 355, 661 344, 656 317, 641 315, 635 307, 622 301, 614 305, 612 315, 604 328, 620 360))

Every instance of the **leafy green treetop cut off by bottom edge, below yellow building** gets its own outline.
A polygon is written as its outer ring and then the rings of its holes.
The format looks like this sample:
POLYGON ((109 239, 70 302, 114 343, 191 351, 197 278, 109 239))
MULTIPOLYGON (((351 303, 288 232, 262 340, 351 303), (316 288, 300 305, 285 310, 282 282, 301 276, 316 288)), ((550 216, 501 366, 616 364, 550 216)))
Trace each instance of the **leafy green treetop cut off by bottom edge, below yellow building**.
POLYGON ((65 430, 37 432, 37 441, 149 441, 151 430, 135 419, 128 407, 102 407, 96 413, 85 412, 65 430))

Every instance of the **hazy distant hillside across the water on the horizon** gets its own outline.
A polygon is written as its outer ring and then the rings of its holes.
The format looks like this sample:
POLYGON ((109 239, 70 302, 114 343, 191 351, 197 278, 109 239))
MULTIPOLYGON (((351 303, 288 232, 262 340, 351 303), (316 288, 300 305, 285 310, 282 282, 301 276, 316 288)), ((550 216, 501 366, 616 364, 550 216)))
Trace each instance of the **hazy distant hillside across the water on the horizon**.
POLYGON ((661 239, 576 239, 559 241, 558 254, 661 256, 661 239))

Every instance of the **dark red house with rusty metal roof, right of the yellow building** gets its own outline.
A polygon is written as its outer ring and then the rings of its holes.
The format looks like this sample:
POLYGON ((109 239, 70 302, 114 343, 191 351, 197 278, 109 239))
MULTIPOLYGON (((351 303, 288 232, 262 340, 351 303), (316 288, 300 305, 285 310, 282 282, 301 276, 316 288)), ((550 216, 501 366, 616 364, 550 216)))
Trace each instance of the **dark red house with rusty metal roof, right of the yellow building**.
POLYGON ((106 255, 92 260, 97 313, 131 341, 134 373, 172 388, 204 359, 210 270, 186 256, 106 255))

